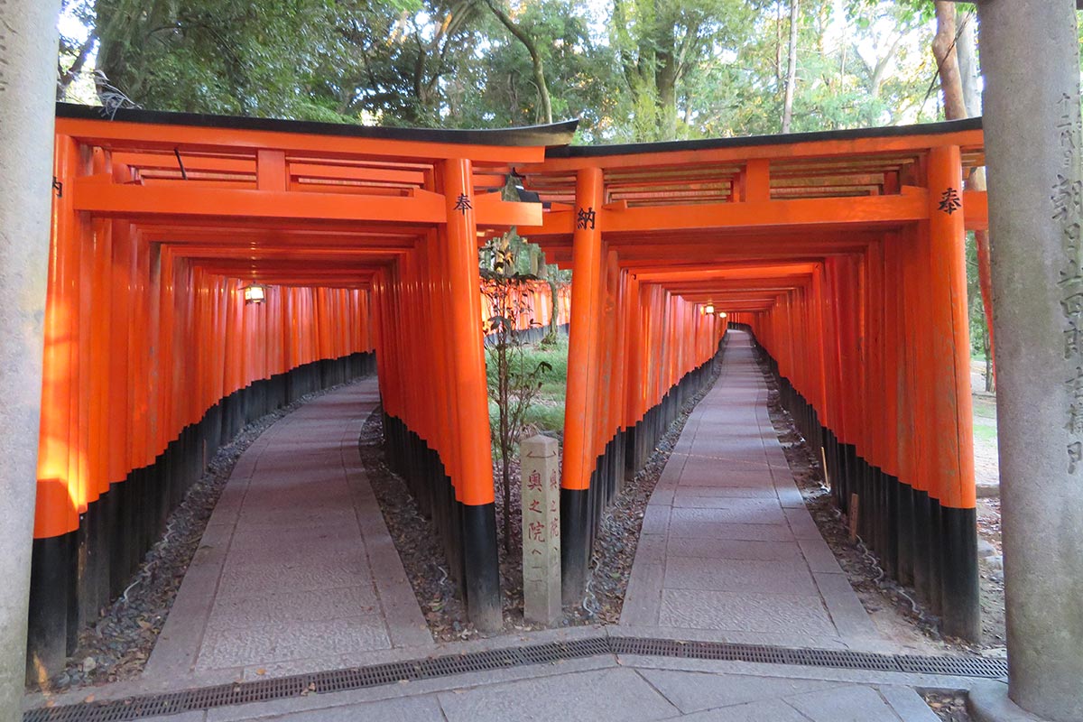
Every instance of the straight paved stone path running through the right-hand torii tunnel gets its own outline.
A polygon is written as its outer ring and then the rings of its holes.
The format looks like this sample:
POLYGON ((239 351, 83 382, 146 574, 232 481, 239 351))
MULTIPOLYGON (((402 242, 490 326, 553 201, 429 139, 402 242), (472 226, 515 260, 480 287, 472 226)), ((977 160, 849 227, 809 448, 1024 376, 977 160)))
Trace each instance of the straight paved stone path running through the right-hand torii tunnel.
POLYGON ((875 647, 878 634, 794 483, 749 337, 730 334, 722 373, 647 507, 621 625, 875 647))

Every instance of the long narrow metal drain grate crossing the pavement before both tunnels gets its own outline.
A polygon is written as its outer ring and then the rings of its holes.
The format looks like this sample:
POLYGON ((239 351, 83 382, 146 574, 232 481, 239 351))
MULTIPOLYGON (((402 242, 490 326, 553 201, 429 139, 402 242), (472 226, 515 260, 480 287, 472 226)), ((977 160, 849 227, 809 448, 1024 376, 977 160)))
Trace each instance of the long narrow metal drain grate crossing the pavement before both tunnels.
POLYGON ((1007 674, 1007 660, 982 657, 915 657, 843 649, 806 649, 759 644, 694 642, 641 636, 590 636, 569 642, 546 642, 523 647, 485 649, 368 667, 295 674, 273 680, 145 695, 113 701, 42 707, 23 716, 24 722, 125 722, 147 717, 177 714, 252 701, 286 699, 305 694, 363 690, 403 681, 428 680, 468 672, 547 665, 563 659, 600 655, 640 655, 683 659, 751 661, 769 665, 803 665, 839 669, 874 669, 954 677, 1000 678, 1007 674))

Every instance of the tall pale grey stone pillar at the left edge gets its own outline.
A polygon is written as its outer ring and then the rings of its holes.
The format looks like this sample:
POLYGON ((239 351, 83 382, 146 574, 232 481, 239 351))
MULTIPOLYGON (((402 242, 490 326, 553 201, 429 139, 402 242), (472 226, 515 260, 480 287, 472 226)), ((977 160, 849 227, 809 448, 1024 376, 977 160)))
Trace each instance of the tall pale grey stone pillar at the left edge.
POLYGON ((23 714, 60 0, 0 0, 0 722, 23 714))

